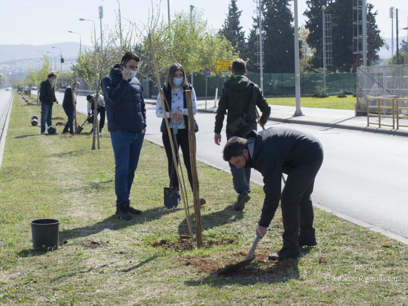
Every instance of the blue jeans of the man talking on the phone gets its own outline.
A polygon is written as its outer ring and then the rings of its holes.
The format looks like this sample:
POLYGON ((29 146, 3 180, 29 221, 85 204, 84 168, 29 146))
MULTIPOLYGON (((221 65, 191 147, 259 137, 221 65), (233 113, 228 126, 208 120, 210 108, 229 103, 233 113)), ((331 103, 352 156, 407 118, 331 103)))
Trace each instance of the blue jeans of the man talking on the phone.
POLYGON ((130 203, 129 195, 139 162, 143 139, 143 132, 111 132, 112 148, 115 156, 115 193, 117 207, 130 203))

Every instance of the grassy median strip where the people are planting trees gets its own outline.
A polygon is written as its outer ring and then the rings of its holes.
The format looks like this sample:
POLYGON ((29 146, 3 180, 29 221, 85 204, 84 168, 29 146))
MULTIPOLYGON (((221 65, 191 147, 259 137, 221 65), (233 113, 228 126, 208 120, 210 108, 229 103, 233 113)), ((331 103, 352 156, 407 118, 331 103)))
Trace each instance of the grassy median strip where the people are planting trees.
MULTIPOLYGON (((0 171, 0 304, 408 303, 408 247, 320 210, 319 244, 303 248, 300 260, 267 261, 282 243, 278 210, 249 268, 218 277, 214 271, 243 259, 254 239, 261 186, 252 184, 245 211, 235 212, 231 175, 198 163, 207 198, 206 247, 172 245, 187 228, 182 209, 163 207, 163 148, 144 142, 131 196, 143 214, 119 221, 109 134, 102 134, 100 150, 91 151, 91 136, 39 135, 39 127, 30 125, 33 114, 39 108, 15 96, 0 171), (30 221, 42 217, 61 221, 60 242, 66 243, 53 252, 31 250, 30 221), (367 268, 355 269, 359 264, 367 268)), ((53 116, 65 118, 60 106, 53 116)))

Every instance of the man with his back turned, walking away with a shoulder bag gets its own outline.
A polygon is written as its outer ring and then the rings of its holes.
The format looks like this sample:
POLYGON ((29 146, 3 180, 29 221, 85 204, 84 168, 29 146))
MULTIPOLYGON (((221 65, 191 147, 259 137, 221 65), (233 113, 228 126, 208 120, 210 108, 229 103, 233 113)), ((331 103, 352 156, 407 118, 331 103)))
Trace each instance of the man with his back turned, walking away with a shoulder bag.
MULTIPOLYGON (((233 136, 245 137, 250 130, 257 130, 257 113, 258 106, 262 112, 258 123, 264 125, 271 114, 271 108, 262 95, 262 90, 258 85, 251 82, 246 74, 246 63, 242 59, 233 61, 231 67, 232 77, 224 83, 221 90, 221 97, 218 103, 217 115, 215 116, 214 141, 217 145, 221 143, 222 122, 226 111, 226 138, 233 136), (248 96, 251 94, 251 97, 248 96), (249 102, 249 104, 248 104, 249 102), (247 112, 247 114, 245 114, 247 112), (247 123, 246 129, 232 131, 231 125, 235 120, 242 120, 247 123)), ((249 179, 251 169, 237 169, 230 163, 231 173, 233 175, 234 189, 238 193, 235 210, 243 210, 245 203, 249 201, 250 188, 249 179)))

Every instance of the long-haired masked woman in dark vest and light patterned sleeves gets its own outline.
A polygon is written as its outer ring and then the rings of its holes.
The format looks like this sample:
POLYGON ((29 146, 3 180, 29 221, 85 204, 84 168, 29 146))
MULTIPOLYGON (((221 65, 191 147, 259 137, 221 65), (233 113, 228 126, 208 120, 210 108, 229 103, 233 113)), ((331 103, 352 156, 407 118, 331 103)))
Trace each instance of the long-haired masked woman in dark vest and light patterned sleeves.
MULTIPOLYGON (((175 141, 177 146, 174 147, 176 150, 176 159, 177 163, 179 163, 179 156, 177 151, 179 151, 179 147, 181 147, 183 152, 183 159, 184 165, 187 169, 187 176, 190 182, 190 187, 193 189, 193 176, 191 173, 191 164, 190 164, 190 148, 189 148, 189 140, 188 140, 188 120, 194 120, 194 118, 188 117, 188 110, 187 110, 187 101, 186 101, 186 93, 185 90, 191 90, 191 101, 193 106, 193 114, 195 115, 197 112, 196 106, 196 96, 193 86, 187 82, 186 73, 184 68, 179 63, 174 63, 170 66, 169 70, 167 71, 166 81, 163 86, 163 96, 165 98, 165 107, 167 117, 170 117, 170 130, 171 133, 174 132, 175 134, 175 141), (167 104, 166 104, 167 102, 167 104), (176 131, 174 127, 176 126, 176 131)), ((159 118, 164 117, 164 112, 162 108, 162 104, 160 101, 160 95, 157 98, 156 104, 156 116, 159 118)), ((196 122, 194 123, 194 132, 198 131, 198 125, 196 122)), ((162 132, 162 140, 164 149, 166 150, 167 155, 167 163, 168 163, 168 173, 170 181, 172 181, 172 188, 179 188, 179 202, 181 201, 180 197, 180 187, 179 187, 179 180, 177 180, 177 175, 175 173, 175 168, 173 165, 173 158, 170 146, 169 136, 167 134, 166 123, 164 118, 162 120, 162 124, 160 126, 160 132, 162 132), (173 169, 172 169, 173 168, 173 169)), ((200 197, 200 205, 206 203, 205 198, 200 197)))

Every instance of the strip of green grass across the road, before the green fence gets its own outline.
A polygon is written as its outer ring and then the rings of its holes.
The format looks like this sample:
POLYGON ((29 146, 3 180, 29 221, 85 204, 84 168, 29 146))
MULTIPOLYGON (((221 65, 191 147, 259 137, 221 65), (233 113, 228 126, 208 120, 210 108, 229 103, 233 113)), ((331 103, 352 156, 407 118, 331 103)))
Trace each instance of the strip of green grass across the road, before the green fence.
MULTIPOLYGON (((270 105, 296 105, 295 97, 275 97, 267 98, 266 100, 270 105)), ((301 97, 300 103, 302 107, 354 110, 355 97, 352 95, 347 95, 345 98, 339 98, 337 96, 328 96, 327 98, 301 97)))

